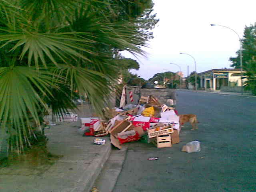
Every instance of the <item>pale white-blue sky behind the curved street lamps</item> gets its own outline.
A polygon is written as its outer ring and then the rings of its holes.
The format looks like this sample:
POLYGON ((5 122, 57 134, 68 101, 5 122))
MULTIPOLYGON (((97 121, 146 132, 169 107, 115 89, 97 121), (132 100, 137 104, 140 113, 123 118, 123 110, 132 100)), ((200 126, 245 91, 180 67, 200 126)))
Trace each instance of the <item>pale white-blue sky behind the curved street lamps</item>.
POLYGON ((153 2, 154 13, 160 21, 152 30, 154 39, 148 42, 149 48, 142 48, 147 52, 147 57, 134 58, 130 53, 122 53, 126 58, 139 62, 140 69, 131 72, 146 80, 156 73, 178 72, 180 69, 187 76, 195 68, 197 73, 232 68, 229 58, 237 56, 239 37, 243 37, 245 26, 256 22, 255 0, 153 2), (229 28, 210 24, 227 26, 238 35, 229 28))

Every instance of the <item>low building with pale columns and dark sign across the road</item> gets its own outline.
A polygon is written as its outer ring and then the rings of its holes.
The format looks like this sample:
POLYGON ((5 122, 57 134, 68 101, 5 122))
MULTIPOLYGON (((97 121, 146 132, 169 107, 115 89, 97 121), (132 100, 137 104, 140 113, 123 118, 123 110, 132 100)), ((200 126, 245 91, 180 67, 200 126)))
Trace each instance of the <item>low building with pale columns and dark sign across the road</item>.
MULTIPOLYGON (((198 73, 198 78, 200 88, 205 90, 220 90, 221 86, 242 86, 240 69, 212 69, 198 73)), ((243 84, 244 81, 246 78, 243 79, 243 84)))

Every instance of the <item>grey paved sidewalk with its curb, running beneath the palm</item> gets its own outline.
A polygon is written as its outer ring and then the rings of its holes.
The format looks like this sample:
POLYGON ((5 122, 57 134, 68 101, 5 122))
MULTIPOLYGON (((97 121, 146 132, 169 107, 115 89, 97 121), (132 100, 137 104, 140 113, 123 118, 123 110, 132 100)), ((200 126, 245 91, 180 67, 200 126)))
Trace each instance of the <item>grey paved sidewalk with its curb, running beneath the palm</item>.
MULTIPOLYGON (((88 105, 78 113, 79 117, 89 117, 88 105)), ((109 137, 105 145, 93 143, 95 137, 78 134, 77 122, 62 122, 45 130, 48 150, 52 154, 63 155, 44 172, 14 172, 0 175, 0 192, 88 192, 111 151, 109 137)))

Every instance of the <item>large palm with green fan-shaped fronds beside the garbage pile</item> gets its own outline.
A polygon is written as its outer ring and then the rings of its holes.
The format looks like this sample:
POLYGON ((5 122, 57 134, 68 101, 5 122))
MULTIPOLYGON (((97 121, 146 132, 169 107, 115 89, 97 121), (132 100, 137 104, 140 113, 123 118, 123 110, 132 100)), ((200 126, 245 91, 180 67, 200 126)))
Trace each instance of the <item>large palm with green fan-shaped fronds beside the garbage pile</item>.
POLYGON ((101 112, 118 79, 116 51, 144 55, 148 34, 136 17, 146 7, 117 19, 123 2, 0 0, 0 128, 14 132, 18 151, 41 130, 47 108, 75 108, 75 91, 101 112))

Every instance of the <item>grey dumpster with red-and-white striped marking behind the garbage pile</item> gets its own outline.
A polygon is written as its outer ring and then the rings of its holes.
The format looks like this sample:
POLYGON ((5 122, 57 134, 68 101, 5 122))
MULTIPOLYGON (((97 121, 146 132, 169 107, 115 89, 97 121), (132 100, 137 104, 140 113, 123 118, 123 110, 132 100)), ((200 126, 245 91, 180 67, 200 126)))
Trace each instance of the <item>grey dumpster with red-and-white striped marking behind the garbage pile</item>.
POLYGON ((168 99, 174 100, 176 105, 176 88, 140 88, 139 86, 126 87, 127 104, 138 104, 141 96, 154 96, 160 103, 167 103, 168 99), (130 92, 132 92, 133 102, 130 100, 130 92))

